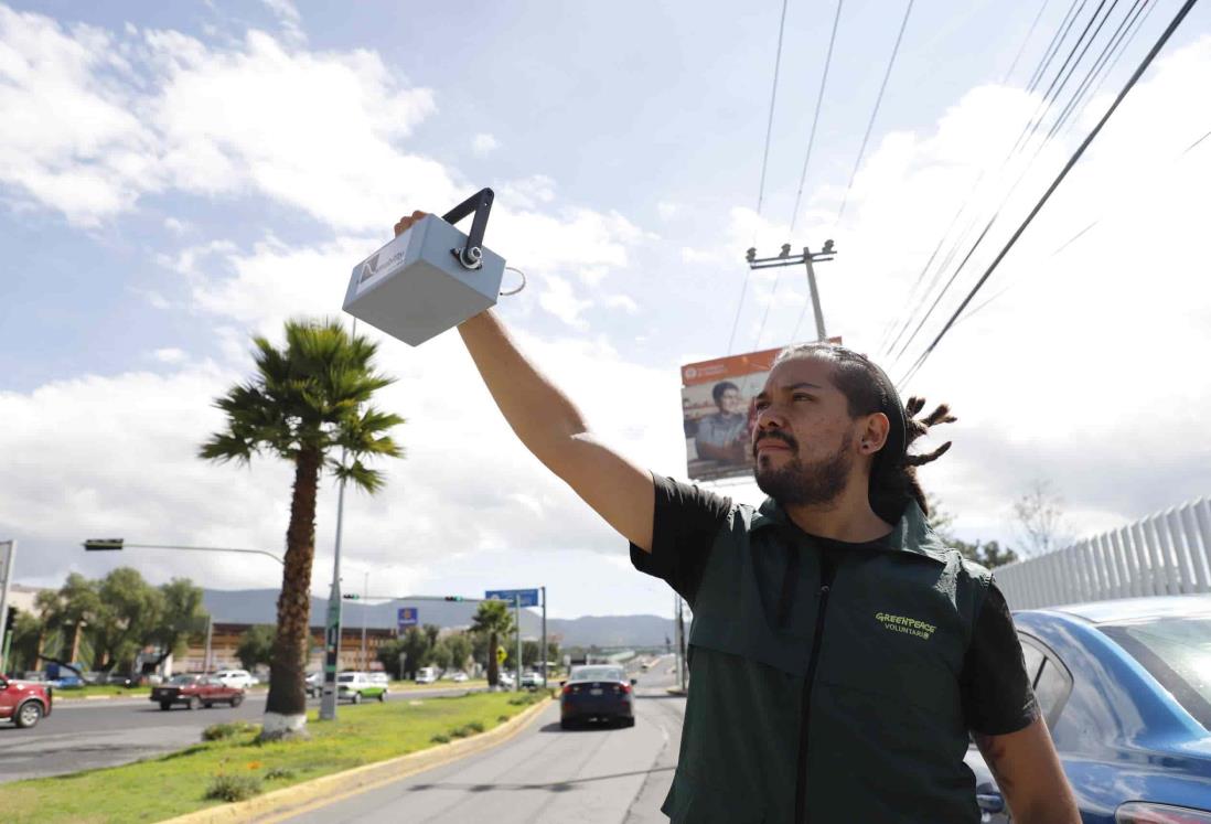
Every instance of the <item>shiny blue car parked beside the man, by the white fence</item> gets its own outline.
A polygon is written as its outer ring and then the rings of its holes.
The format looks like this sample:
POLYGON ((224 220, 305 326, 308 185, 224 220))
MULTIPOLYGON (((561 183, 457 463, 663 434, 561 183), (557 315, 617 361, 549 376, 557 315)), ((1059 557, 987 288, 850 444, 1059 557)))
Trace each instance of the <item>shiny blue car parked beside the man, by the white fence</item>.
MULTIPOLYGON (((1211 824, 1211 596, 1014 613, 1084 824, 1211 824)), ((988 824, 1008 811, 980 751, 988 824)))

